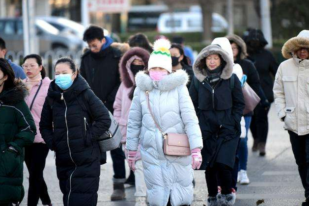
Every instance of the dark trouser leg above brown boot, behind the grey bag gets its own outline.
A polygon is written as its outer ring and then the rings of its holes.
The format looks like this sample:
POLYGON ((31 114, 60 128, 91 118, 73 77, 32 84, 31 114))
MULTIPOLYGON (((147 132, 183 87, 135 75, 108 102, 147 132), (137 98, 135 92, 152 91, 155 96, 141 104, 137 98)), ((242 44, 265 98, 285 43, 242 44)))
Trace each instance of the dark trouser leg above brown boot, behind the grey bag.
POLYGON ((122 151, 122 148, 116 148, 111 151, 112 156, 112 168, 114 170, 114 179, 125 179, 126 170, 125 170, 125 155, 122 151))

